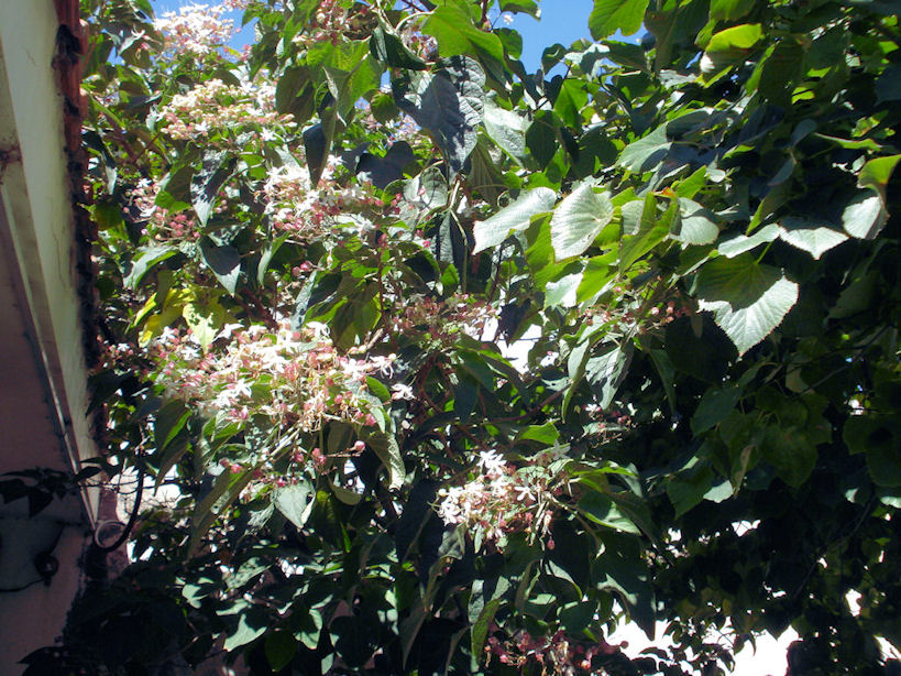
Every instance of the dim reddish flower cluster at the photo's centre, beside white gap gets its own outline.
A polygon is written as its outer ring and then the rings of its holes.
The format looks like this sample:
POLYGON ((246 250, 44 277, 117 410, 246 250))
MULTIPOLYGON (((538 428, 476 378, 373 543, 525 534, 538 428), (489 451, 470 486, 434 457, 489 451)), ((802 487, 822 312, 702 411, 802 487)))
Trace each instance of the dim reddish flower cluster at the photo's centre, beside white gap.
POLYGON ((425 296, 407 302, 394 318, 394 328, 400 332, 425 329, 438 347, 446 347, 455 344, 461 335, 481 339, 496 315, 490 303, 469 294, 454 294, 444 301, 425 296))

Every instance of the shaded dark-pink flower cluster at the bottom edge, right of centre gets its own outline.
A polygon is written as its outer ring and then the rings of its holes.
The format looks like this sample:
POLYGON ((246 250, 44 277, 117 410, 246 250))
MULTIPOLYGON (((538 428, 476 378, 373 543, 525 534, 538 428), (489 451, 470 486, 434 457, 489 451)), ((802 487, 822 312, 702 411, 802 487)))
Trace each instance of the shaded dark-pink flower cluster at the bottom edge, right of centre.
POLYGON ((515 667, 524 667, 529 661, 542 666, 543 674, 571 676, 579 672, 593 672, 592 659, 595 655, 615 653, 618 646, 602 640, 593 645, 572 642, 560 630, 550 636, 532 636, 520 630, 512 639, 501 640, 497 635, 488 637, 485 652, 488 661, 496 656, 498 662, 515 667))

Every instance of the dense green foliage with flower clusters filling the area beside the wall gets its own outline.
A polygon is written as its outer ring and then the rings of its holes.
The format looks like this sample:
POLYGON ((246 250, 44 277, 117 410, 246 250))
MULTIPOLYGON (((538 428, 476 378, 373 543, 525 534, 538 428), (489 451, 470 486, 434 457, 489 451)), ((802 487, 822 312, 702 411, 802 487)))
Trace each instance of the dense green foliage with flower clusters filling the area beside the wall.
POLYGON ((595 0, 537 73, 536 0, 83 4, 149 488, 32 673, 894 673, 897 2, 595 0))

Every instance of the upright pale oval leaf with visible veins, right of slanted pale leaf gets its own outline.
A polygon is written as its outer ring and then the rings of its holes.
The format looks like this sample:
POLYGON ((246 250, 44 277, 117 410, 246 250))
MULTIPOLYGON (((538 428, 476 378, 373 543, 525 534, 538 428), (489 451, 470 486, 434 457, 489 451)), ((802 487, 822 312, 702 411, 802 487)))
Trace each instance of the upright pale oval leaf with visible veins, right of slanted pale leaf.
POLYGON ((551 217, 551 246, 557 259, 579 255, 613 219, 606 193, 595 193, 593 182, 576 187, 557 206, 551 217))

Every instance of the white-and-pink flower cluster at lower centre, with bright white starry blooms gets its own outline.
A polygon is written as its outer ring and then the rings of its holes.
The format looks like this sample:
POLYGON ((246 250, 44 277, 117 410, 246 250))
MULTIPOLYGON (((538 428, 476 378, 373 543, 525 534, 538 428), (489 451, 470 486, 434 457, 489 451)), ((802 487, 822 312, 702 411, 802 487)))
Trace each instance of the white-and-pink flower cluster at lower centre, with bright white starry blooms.
MULTIPOLYGON (((551 508, 564 487, 565 454, 549 449, 528 467, 516 469, 493 450, 480 454, 482 472, 463 486, 441 489, 438 514, 447 525, 465 525, 476 547, 482 541, 503 548, 509 533, 525 532, 545 537, 552 519, 551 508)), ((553 548, 553 539, 546 542, 553 548)))

